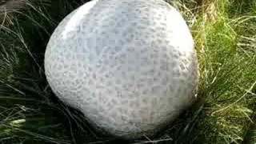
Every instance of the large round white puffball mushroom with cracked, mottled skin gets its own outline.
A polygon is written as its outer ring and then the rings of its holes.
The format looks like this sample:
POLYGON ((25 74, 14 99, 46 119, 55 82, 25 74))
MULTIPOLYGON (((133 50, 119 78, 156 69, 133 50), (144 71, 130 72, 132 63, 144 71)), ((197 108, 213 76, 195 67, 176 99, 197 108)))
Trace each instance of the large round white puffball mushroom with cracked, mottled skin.
POLYGON ((196 99, 188 26, 162 0, 94 0, 59 24, 46 49, 58 98, 121 138, 152 136, 196 99))

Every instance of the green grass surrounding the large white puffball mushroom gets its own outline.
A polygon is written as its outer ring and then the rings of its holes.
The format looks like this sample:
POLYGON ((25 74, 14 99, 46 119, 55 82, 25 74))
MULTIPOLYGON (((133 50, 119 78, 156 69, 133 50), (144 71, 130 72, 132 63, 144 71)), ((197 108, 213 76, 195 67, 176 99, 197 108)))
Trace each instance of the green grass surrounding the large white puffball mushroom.
POLYGON ((98 134, 47 85, 50 34, 85 1, 0 10, 0 143, 256 143, 256 0, 166 1, 194 36, 200 99, 156 138, 133 142, 98 134))

